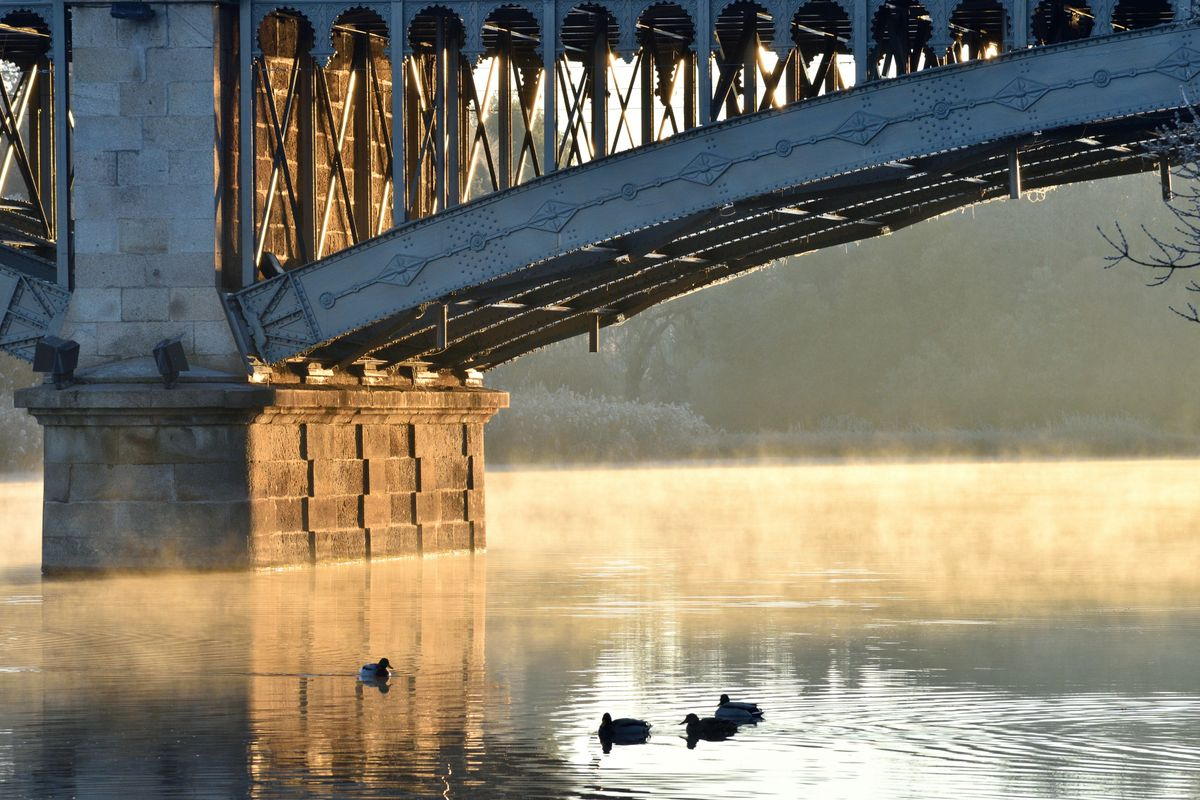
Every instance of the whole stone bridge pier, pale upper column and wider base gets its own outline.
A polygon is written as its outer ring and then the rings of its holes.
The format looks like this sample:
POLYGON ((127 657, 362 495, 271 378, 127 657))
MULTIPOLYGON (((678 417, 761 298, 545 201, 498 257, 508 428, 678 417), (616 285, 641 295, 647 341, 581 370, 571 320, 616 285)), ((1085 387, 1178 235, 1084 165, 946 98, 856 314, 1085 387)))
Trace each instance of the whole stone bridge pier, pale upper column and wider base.
MULTIPOLYGON (((137 5, 137 4, 126 4, 137 5)), ((71 10, 74 383, 18 393, 43 426, 46 571, 242 569, 486 543, 472 375, 247 365, 236 285, 236 35, 217 4, 71 10), (230 72, 232 71, 232 72, 230 72), (151 353, 179 337, 167 387, 151 353), (247 373, 252 373, 247 377, 247 373)))

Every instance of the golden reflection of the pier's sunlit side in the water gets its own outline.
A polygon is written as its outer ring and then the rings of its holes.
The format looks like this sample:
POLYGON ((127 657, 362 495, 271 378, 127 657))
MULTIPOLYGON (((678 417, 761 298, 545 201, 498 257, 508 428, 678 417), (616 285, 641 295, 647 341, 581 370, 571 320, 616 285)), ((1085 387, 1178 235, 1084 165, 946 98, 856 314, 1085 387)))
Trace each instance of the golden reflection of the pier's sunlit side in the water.
POLYGON ((252 795, 328 782, 427 796, 445 788, 434 776, 466 774, 482 750, 486 596, 486 563, 469 557, 253 581, 251 606, 274 610, 251 625, 252 795), (359 655, 392 662, 385 692, 347 676, 359 655))

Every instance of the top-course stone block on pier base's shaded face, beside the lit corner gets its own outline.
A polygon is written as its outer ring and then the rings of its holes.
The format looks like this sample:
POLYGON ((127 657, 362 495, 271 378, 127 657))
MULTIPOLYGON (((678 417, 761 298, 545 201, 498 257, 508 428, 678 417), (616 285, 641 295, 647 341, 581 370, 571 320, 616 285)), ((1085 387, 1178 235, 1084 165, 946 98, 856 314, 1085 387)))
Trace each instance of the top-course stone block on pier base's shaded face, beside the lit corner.
POLYGON ((118 453, 126 464, 238 463, 245 459, 246 429, 240 425, 181 423, 113 431, 119 432, 118 453))

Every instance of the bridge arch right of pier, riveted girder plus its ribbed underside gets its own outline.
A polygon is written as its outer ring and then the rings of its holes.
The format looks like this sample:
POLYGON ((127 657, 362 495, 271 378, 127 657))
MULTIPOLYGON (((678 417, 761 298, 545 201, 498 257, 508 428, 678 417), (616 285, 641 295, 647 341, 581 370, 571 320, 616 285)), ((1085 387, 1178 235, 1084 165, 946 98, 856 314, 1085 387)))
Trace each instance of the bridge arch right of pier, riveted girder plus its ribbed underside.
MULTIPOLYGON (((487 369, 785 255, 1158 169, 1144 145, 1200 76, 1190 24, 991 59, 958 47, 970 62, 733 114, 408 222, 233 295, 230 319, 270 363, 487 369)), ((739 102, 762 107, 762 83, 739 102)))

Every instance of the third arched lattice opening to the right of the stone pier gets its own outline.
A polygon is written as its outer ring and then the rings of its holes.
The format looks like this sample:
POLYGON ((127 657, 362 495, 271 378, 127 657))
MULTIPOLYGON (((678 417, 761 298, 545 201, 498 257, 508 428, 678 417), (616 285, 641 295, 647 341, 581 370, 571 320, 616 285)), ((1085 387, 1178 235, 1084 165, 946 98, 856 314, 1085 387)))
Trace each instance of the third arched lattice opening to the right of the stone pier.
POLYGON ((462 85, 470 65, 462 55, 466 30, 449 8, 422 10, 408 28, 412 55, 404 71, 404 207, 412 217, 462 201, 466 118, 462 85))

